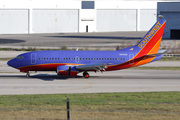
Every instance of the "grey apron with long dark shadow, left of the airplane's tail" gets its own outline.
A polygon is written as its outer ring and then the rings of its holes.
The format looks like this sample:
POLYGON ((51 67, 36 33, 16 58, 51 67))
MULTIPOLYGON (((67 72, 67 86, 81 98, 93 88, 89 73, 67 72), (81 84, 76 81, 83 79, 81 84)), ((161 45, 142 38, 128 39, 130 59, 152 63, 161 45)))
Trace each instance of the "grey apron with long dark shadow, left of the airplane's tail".
POLYGON ((53 33, 0 35, 0 46, 22 47, 108 47, 136 43, 146 32, 53 33), (124 43, 124 42, 123 42, 124 43))

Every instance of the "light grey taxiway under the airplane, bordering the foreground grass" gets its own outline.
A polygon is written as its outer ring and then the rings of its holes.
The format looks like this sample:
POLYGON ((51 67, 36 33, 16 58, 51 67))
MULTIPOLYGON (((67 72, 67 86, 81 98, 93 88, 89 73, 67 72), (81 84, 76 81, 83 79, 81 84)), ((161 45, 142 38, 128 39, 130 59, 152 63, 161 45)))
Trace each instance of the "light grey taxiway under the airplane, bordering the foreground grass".
POLYGON ((0 95, 180 91, 180 71, 119 70, 90 73, 90 78, 55 73, 0 73, 0 95))

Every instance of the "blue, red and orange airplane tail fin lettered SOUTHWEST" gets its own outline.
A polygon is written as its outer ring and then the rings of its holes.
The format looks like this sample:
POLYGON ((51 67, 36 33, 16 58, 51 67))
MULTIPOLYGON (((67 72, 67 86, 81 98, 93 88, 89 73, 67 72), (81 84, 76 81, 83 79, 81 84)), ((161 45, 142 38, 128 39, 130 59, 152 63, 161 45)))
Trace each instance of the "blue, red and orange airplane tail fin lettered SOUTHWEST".
POLYGON ((134 64, 133 67, 149 63, 154 58, 156 58, 151 57, 147 59, 147 55, 158 53, 165 25, 166 20, 161 19, 157 21, 154 26, 147 32, 147 34, 141 39, 141 41, 137 45, 133 46, 134 49, 136 49, 136 55, 134 59, 145 56, 141 61, 134 64))

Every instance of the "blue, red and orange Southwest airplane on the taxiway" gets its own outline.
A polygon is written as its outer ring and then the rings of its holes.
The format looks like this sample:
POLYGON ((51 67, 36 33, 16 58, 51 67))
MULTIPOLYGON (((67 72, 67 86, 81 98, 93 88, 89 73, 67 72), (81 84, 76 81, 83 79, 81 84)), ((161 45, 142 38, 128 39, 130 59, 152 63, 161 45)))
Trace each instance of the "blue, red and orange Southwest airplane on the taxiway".
POLYGON ((60 76, 77 76, 83 73, 89 78, 89 71, 104 72, 127 69, 161 59, 159 46, 166 20, 158 20, 138 44, 117 51, 33 51, 18 55, 7 62, 20 72, 56 71, 60 76))

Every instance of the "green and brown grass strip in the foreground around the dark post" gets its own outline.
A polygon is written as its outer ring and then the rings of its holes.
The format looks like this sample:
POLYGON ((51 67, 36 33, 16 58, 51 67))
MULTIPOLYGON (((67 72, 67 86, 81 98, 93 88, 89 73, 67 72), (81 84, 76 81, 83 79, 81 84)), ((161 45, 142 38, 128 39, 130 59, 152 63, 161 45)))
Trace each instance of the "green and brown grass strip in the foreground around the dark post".
POLYGON ((2 118, 66 119, 66 99, 72 119, 178 119, 180 92, 2 95, 2 118), (128 116, 128 118, 127 118, 128 116))

